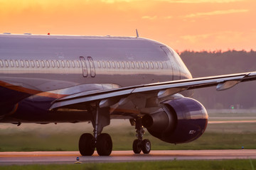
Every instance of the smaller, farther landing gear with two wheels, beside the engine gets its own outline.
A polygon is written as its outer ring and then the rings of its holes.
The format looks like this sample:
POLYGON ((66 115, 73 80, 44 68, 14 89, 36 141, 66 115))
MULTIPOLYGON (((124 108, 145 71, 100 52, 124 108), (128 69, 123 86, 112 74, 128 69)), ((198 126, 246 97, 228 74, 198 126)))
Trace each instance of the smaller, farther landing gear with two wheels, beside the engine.
POLYGON ((149 140, 142 140, 145 130, 142 127, 142 118, 136 118, 135 129, 137 140, 134 140, 132 149, 135 154, 143 152, 144 154, 149 154, 151 151, 151 143, 149 140))

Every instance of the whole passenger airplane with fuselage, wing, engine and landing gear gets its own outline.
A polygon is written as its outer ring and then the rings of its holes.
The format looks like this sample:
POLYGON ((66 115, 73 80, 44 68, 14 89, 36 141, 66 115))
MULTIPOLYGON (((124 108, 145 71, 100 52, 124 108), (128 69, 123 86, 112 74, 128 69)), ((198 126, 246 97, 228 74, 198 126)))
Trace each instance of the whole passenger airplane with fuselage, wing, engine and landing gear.
POLYGON ((230 89, 256 72, 193 78, 161 42, 137 37, 0 34, 0 123, 92 123, 82 156, 112 152, 102 133, 111 119, 135 126, 135 154, 149 154, 144 128, 164 142, 191 142, 205 132, 206 108, 193 89, 230 89))

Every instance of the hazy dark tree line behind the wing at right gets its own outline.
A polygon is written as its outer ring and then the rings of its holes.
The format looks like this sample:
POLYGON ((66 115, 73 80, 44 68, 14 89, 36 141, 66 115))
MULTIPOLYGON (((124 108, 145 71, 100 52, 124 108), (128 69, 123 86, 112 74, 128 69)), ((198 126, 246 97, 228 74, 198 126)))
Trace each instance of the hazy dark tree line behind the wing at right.
MULTIPOLYGON (((256 51, 221 50, 208 52, 180 52, 183 62, 193 77, 208 77, 256 71, 256 51)), ((215 87, 196 89, 194 96, 206 108, 256 108, 256 81, 238 84, 225 91, 215 87)))

